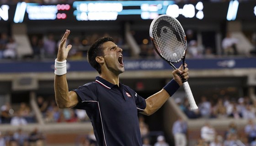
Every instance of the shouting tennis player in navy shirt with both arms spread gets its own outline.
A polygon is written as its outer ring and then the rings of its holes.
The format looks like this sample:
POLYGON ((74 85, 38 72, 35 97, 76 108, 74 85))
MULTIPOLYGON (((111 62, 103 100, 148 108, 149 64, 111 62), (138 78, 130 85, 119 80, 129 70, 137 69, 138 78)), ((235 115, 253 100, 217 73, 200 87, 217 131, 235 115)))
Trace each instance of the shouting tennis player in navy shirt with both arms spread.
POLYGON ((59 108, 83 109, 89 116, 98 146, 142 146, 138 113, 151 115, 182 85, 178 73, 188 79, 182 66, 172 71, 171 80, 162 90, 144 99, 133 89, 119 82, 124 72, 122 49, 111 37, 103 37, 91 45, 87 58, 99 76, 96 81, 69 91, 66 80, 66 59, 71 45, 66 46, 70 30, 59 44, 55 60, 54 91, 59 108))

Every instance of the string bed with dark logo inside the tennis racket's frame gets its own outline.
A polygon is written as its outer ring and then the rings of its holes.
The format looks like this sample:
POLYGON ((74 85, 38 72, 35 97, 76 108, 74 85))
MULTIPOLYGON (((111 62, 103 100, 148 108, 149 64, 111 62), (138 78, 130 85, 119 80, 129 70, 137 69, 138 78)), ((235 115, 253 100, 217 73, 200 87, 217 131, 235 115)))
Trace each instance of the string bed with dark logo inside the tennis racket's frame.
POLYGON ((157 20, 155 24, 153 27, 154 44, 160 55, 170 62, 179 62, 186 50, 185 35, 181 26, 175 20, 165 17, 157 20), (161 30, 157 31, 158 28, 161 30))

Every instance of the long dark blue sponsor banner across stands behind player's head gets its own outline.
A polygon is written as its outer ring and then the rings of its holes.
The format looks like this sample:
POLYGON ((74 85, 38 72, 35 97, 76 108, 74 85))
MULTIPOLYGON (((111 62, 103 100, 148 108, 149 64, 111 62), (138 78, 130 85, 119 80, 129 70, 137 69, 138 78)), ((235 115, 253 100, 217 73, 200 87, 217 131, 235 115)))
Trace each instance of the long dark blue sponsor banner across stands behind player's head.
MULTIPOLYGON (((125 70, 172 70, 171 65, 161 59, 124 60, 125 70)), ((256 68, 256 58, 236 59, 187 59, 190 70, 256 68)), ((181 62, 174 64, 176 67, 181 62)), ((87 61, 68 61, 68 71, 96 71, 87 61)), ((54 72, 54 61, 0 62, 0 73, 8 72, 54 72)))

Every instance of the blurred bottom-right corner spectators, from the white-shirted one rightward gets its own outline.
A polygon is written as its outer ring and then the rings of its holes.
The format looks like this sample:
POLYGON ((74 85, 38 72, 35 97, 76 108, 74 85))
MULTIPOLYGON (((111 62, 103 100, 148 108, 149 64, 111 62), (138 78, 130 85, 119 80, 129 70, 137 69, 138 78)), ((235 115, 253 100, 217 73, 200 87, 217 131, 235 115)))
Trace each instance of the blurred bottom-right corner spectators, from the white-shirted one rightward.
POLYGON ((242 130, 238 130, 235 122, 229 123, 224 134, 216 131, 209 122, 201 127, 200 138, 196 146, 256 146, 256 123, 252 119, 242 130))

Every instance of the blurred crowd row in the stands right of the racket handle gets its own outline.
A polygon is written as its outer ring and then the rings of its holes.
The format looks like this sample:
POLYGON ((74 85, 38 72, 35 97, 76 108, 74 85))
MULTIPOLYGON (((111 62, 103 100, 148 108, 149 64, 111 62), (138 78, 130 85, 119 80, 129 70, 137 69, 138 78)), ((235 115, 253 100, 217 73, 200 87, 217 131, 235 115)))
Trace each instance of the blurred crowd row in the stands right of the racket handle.
POLYGON ((234 118, 234 119, 255 119, 256 102, 252 101, 249 96, 240 97, 239 99, 224 96, 224 98, 208 98, 201 96, 198 102, 198 109, 192 111, 187 98, 175 99, 180 109, 191 119, 196 118, 234 118))

